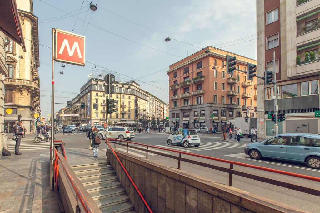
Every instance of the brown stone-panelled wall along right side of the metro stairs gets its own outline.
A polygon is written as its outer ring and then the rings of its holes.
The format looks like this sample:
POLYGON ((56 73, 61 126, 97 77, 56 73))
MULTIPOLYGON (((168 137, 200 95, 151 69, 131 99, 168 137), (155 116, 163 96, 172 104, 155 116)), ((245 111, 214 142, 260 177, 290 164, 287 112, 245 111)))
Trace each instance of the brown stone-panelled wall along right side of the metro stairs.
MULTIPOLYGON (((153 212, 303 212, 200 176, 116 151, 153 212)), ((108 149, 107 158, 136 212, 148 212, 108 149)))

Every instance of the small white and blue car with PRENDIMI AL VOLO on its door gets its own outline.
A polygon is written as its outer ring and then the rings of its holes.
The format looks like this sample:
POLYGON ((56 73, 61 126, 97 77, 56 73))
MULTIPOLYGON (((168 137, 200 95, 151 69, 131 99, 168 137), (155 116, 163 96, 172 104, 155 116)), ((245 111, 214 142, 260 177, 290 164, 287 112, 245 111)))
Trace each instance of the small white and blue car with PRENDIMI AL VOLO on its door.
POLYGON ((200 146, 200 138, 196 130, 194 129, 178 129, 167 139, 168 145, 183 145, 188 148, 191 145, 195 147, 200 146))

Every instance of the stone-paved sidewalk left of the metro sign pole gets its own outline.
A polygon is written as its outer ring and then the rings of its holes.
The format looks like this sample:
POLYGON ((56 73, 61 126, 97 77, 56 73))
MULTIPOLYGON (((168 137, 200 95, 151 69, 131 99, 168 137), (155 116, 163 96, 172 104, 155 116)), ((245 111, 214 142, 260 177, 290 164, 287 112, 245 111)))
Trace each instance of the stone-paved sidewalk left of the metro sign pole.
POLYGON ((60 212, 59 194, 49 189, 50 151, 22 154, 0 156, 0 212, 60 212))

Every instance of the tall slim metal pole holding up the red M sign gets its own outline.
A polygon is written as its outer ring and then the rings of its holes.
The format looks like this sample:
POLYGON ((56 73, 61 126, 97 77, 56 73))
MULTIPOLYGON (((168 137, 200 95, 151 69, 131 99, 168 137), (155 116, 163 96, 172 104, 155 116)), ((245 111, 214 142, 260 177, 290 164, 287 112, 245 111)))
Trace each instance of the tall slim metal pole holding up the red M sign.
POLYGON ((53 119, 52 116, 54 115, 54 34, 55 29, 52 28, 52 60, 51 60, 51 141, 50 141, 50 191, 53 191, 53 164, 54 164, 54 144, 53 144, 53 138, 54 138, 54 132, 53 132, 53 119))

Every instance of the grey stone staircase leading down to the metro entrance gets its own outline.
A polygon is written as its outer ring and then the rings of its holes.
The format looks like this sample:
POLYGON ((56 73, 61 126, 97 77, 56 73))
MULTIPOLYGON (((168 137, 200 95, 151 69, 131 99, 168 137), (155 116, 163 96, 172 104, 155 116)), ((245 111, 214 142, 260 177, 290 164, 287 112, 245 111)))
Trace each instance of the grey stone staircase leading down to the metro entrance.
POLYGON ((135 212, 107 160, 70 166, 102 212, 135 212))

